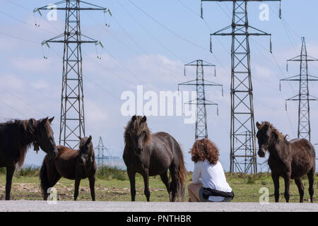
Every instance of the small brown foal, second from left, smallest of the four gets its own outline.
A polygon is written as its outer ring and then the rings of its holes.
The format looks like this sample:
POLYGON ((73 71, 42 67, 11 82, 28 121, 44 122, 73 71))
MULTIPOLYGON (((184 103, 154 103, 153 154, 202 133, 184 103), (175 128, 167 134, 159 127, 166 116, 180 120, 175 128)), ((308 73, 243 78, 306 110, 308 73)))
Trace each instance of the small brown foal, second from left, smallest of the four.
POLYGON ((92 143, 92 136, 80 138, 79 150, 57 145, 59 155, 54 160, 45 156, 40 169, 40 187, 44 200, 47 200, 48 189, 52 188, 61 177, 75 180, 74 201, 78 197, 78 187, 81 179, 90 182, 90 195, 95 201, 95 173, 96 163, 92 143))

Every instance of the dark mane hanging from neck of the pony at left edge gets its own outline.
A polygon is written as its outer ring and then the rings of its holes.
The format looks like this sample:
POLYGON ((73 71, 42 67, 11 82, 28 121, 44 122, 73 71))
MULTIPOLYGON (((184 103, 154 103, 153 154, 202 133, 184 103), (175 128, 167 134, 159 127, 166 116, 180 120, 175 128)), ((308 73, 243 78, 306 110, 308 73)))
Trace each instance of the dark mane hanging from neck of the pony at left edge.
POLYGON ((7 121, 6 124, 12 128, 12 137, 16 138, 16 141, 13 142, 18 144, 18 156, 16 157, 16 162, 18 164, 18 169, 20 169, 25 160, 28 148, 30 148, 35 141, 37 121, 35 119, 13 119, 7 121))

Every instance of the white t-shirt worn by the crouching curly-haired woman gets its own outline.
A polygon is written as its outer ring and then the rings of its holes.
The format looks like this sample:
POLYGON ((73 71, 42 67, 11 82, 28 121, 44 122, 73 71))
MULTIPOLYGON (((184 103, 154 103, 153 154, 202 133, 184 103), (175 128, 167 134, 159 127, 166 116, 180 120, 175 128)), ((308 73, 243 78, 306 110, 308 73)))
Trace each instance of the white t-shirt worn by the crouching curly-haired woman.
MULTIPOLYGON (((210 164, 208 160, 194 162, 192 182, 195 184, 203 184, 205 188, 216 189, 218 191, 232 191, 230 185, 226 182, 224 170, 220 161, 216 162, 216 165, 210 164)), ((208 200, 223 201, 224 197, 210 196, 208 200)))

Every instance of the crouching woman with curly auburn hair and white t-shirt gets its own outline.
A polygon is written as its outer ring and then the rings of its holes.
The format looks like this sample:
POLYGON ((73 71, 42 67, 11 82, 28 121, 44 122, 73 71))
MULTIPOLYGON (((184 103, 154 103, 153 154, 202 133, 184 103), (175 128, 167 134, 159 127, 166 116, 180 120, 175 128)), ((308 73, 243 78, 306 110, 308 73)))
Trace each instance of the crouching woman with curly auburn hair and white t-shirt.
POLYGON ((190 202, 229 202, 234 194, 226 182, 223 167, 218 160, 218 148, 207 138, 194 143, 191 151, 194 161, 192 184, 189 184, 190 202), (201 177, 201 179, 200 179, 201 177))

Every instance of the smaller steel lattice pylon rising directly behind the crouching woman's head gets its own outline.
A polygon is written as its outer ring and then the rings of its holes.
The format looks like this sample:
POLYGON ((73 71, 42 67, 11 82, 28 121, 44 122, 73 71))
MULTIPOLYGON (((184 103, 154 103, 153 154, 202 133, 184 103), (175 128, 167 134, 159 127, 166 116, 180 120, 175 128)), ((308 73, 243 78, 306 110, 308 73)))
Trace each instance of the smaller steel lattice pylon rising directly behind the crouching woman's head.
MULTIPOLYGON (((207 121, 206 121, 206 105, 216 105, 218 107, 218 104, 215 102, 211 102, 210 100, 206 100, 206 94, 205 94, 205 88, 206 85, 212 85, 212 86, 221 86, 222 87, 222 95, 223 95, 223 85, 219 85, 216 83, 213 83, 211 81, 204 80, 204 67, 214 67, 215 65, 210 64, 206 61, 203 61, 201 59, 193 61, 189 64, 184 65, 184 76, 186 76, 186 67, 187 66, 196 66, 196 79, 192 81, 187 81, 185 83, 179 83, 178 84, 178 90, 179 85, 196 85, 196 93, 197 97, 196 100, 191 100, 188 102, 188 105, 196 105, 196 132, 195 132, 195 140, 199 140, 201 138, 208 138, 208 127, 207 127, 207 121)), ((214 70, 214 74, 216 76, 216 71, 214 70)))

